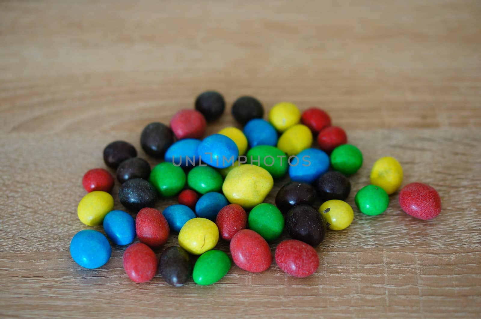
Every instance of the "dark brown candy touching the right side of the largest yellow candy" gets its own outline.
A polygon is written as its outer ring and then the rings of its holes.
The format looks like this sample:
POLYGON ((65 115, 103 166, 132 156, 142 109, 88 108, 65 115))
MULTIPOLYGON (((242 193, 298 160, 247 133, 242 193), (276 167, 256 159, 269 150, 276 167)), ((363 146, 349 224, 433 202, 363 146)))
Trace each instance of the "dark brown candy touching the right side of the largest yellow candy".
POLYGON ((276 206, 285 214, 297 205, 313 205, 316 191, 306 183, 290 182, 282 186, 276 195, 276 206))

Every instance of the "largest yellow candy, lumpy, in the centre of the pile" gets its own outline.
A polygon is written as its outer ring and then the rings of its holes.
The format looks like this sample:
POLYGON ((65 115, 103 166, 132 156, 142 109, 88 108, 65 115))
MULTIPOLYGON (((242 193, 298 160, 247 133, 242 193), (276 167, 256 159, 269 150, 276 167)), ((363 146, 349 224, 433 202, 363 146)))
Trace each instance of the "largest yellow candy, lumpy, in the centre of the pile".
POLYGON ((271 174, 253 163, 234 167, 226 177, 222 191, 228 201, 245 209, 262 203, 272 189, 271 174))

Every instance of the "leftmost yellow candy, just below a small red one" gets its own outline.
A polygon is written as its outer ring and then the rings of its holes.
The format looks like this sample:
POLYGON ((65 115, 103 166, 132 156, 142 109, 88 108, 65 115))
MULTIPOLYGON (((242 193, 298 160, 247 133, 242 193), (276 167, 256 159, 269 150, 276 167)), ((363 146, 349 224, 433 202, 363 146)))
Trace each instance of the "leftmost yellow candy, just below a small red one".
POLYGON ((114 198, 106 192, 94 191, 85 195, 77 207, 78 219, 86 225, 99 225, 105 215, 114 209, 114 198))

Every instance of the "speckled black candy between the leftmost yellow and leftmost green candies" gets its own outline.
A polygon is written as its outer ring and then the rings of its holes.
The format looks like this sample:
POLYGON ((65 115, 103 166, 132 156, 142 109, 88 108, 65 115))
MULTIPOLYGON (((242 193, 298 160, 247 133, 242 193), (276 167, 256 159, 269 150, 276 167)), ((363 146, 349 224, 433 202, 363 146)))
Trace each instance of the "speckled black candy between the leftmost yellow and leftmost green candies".
POLYGON ((120 186, 119 200, 125 208, 138 211, 144 207, 153 207, 157 201, 157 192, 146 180, 134 178, 120 186))

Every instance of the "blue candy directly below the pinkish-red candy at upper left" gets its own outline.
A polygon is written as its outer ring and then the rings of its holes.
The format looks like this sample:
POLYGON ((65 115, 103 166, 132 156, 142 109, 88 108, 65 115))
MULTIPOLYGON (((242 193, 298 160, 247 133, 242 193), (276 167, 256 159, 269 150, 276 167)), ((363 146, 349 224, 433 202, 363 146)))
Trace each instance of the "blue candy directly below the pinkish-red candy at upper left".
POLYGON ((182 167, 195 166, 199 163, 199 156, 197 155, 199 144, 201 144, 201 141, 195 138, 177 141, 167 148, 164 159, 176 166, 179 166, 179 163, 182 167), (192 162, 195 164, 192 165, 192 162))

